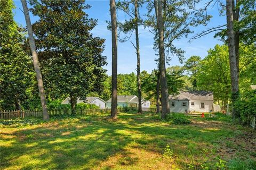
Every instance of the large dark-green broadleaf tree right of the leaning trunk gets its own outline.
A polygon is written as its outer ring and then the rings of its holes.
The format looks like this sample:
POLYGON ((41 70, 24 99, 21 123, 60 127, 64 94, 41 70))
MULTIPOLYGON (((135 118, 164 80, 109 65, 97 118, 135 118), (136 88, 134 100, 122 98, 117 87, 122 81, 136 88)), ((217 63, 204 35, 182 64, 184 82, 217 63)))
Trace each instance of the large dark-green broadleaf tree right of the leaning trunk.
POLYGON ((85 13, 84 0, 31 1, 31 11, 39 17, 33 24, 37 50, 47 94, 69 95, 75 113, 77 98, 91 91, 101 92, 106 70, 104 39, 90 32, 97 20, 85 13))

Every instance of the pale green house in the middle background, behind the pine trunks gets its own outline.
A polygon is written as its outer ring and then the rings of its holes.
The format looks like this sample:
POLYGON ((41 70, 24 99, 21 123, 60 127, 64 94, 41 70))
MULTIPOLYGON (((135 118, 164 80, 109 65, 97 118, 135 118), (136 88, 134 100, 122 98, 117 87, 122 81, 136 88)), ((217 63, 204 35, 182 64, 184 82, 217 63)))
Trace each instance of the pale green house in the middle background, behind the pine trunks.
MULTIPOLYGON (((117 96, 117 107, 138 107, 139 99, 135 95, 117 96)), ((111 98, 106 101, 106 107, 111 108, 111 98)), ((150 101, 142 100, 142 108, 150 108, 150 101)))

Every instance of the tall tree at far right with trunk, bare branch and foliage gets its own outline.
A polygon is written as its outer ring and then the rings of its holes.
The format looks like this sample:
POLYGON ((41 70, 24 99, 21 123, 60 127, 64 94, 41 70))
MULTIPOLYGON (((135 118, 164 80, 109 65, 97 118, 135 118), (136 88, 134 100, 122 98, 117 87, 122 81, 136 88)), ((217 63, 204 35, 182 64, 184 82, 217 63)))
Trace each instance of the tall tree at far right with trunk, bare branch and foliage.
MULTIPOLYGON (((205 14, 207 15, 207 7, 214 1, 205 3, 205 14)), ((216 3, 215 3, 216 4, 216 3)), ((227 24, 218 25, 217 27, 198 33, 192 39, 200 38, 211 32, 218 32, 215 37, 220 36, 223 41, 229 46, 229 62, 230 62, 230 79, 232 89, 232 100, 235 103, 239 96, 239 43, 254 45, 255 48, 255 0, 227 0, 226 5, 221 5, 221 14, 226 11, 227 24)), ((239 117, 235 109, 232 111, 233 117, 239 117)))

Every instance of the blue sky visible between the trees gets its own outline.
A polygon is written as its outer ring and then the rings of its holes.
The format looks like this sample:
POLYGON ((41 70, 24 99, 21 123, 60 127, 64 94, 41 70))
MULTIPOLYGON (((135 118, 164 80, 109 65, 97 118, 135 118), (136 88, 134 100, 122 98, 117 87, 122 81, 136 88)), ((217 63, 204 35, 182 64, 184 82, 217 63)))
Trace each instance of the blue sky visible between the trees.
MULTIPOLYGON (((206 1, 205 1, 206 2, 206 1)), ((14 1, 16 8, 13 10, 14 12, 14 20, 22 26, 26 26, 24 15, 21 11, 22 5, 20 1, 14 1)), ((203 2, 204 3, 204 2, 203 2)), ((99 36, 101 38, 105 38, 105 51, 103 55, 107 56, 108 65, 105 66, 107 69, 107 74, 111 75, 111 31, 107 30, 106 20, 110 21, 110 12, 109 12, 109 1, 86 1, 86 4, 91 5, 92 7, 85 12, 89 14, 90 18, 98 19, 98 25, 92 31, 94 36, 99 36)), ((141 13, 143 13, 146 9, 142 8, 141 13)), ((214 33, 211 33, 207 36, 204 36, 200 39, 196 39, 191 41, 189 38, 195 33, 201 32, 207 28, 211 28, 217 25, 225 24, 226 17, 220 16, 218 12, 217 5, 213 8, 210 8, 208 14, 213 15, 210 23, 204 27, 199 26, 193 28, 194 33, 189 35, 188 38, 181 38, 179 41, 175 41, 174 45, 182 48, 186 51, 185 57, 189 58, 192 55, 198 55, 204 58, 207 55, 207 50, 213 48, 216 44, 222 44, 221 41, 214 39, 214 33)), ((38 20, 37 17, 33 16, 30 13, 31 22, 34 23, 38 20)), ((118 20, 123 21, 127 19, 127 16, 124 14, 118 14, 118 20)), ((156 52, 153 50, 153 35, 148 31, 148 29, 144 29, 143 27, 139 28, 140 32, 140 56, 141 56, 141 71, 146 70, 151 72, 153 69, 156 69, 155 63, 155 54, 156 52)), ((135 35, 132 35, 131 39, 134 40, 135 35)), ((179 63, 177 57, 173 56, 171 62, 169 64, 172 65, 182 65, 179 63)), ((135 72, 137 65, 137 55, 135 54, 135 49, 130 43, 127 41, 126 43, 118 42, 118 73, 131 73, 135 72)))

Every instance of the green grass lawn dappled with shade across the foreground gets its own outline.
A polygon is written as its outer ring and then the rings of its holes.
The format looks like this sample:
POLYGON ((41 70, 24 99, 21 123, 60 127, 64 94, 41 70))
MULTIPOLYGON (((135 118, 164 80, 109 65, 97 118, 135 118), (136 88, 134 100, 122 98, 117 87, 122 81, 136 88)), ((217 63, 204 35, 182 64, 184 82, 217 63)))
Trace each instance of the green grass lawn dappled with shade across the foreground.
POLYGON ((189 120, 175 125, 129 112, 116 121, 2 121, 1 169, 256 169, 255 132, 225 116, 189 120))

